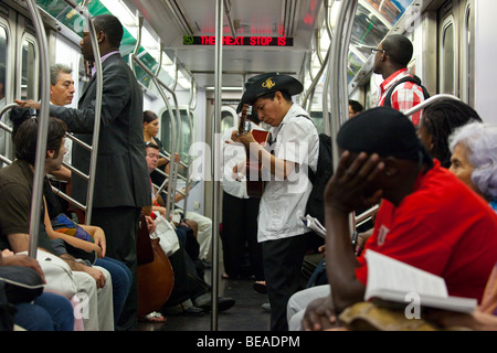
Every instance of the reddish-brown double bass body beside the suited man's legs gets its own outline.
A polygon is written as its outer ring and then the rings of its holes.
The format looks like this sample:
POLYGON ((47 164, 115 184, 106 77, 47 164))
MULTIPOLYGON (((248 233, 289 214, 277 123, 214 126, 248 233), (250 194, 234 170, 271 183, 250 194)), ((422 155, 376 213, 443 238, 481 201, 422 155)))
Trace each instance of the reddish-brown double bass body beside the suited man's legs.
POLYGON ((138 318, 159 310, 169 299, 175 286, 175 272, 159 239, 151 239, 147 220, 140 215, 137 236, 138 318))

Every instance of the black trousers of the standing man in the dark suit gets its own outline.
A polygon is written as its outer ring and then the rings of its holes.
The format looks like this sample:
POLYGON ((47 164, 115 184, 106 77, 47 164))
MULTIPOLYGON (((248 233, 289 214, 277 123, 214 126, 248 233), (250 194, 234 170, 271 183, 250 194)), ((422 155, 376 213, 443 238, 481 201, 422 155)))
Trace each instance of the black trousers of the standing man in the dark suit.
POLYGON ((131 287, 116 330, 133 330, 138 312, 138 281, 136 238, 140 220, 140 207, 120 206, 93 208, 92 225, 105 232, 106 256, 125 264, 133 275, 131 287))

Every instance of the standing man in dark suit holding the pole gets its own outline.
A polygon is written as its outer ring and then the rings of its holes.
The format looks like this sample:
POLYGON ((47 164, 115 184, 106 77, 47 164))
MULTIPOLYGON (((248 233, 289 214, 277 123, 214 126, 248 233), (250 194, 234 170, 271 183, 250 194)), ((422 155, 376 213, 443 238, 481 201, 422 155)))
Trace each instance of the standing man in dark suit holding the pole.
MULTIPOLYGON (((134 280, 120 315, 119 329, 133 329, 137 313, 136 236, 142 206, 150 205, 150 184, 142 137, 142 93, 135 75, 121 60, 123 26, 114 15, 93 19, 103 66, 102 118, 95 173, 92 225, 104 229, 107 256, 126 264, 134 280)), ((95 62, 89 33, 83 32, 84 58, 95 62)), ((39 109, 32 100, 18 101, 39 109)), ((63 120, 71 132, 92 145, 95 121, 96 81, 93 75, 78 103, 78 109, 51 106, 50 115, 63 120)), ((91 153, 74 145, 73 165, 89 172, 91 153)), ((72 173, 72 197, 86 204, 87 181, 72 173)))

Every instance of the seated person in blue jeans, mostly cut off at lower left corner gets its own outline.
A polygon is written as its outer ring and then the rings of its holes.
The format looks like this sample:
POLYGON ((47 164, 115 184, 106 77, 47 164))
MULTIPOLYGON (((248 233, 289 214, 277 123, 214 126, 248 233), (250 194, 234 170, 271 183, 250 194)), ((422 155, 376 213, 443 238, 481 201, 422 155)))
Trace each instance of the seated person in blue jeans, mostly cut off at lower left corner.
MULTIPOLYGON (((0 266, 22 266, 36 270, 44 281, 40 264, 27 255, 0 252, 0 266)), ((73 331, 74 317, 71 302, 62 296, 42 292, 32 302, 15 303, 13 322, 27 331, 73 331)))

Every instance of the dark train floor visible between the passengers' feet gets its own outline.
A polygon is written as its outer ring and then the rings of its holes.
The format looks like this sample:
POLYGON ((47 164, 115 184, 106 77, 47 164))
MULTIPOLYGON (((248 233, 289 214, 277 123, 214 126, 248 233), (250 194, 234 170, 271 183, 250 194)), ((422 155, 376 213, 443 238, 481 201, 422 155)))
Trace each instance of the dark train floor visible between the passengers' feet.
MULTIPOLYGON (((222 266, 220 274, 222 274, 222 266)), ((212 271, 205 270, 205 281, 211 284, 212 271)), ((268 331, 269 312, 262 304, 267 303, 266 295, 253 289, 253 279, 220 279, 219 295, 231 297, 235 304, 218 314, 218 331, 268 331)), ((166 323, 139 322, 139 331, 211 331, 212 315, 202 317, 167 315, 166 323)))

